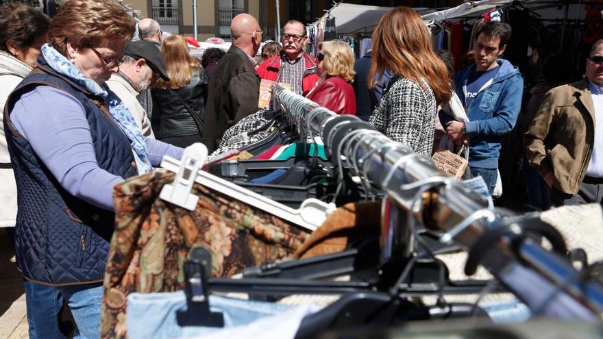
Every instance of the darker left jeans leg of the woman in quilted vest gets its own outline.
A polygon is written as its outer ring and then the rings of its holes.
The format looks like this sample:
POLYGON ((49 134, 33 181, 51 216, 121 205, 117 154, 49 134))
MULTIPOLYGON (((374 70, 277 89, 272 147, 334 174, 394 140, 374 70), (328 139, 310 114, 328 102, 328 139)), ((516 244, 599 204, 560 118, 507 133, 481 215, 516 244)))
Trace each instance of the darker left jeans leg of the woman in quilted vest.
POLYGON ((53 286, 25 280, 25 305, 29 339, 63 339, 59 329, 59 316, 63 298, 53 286))

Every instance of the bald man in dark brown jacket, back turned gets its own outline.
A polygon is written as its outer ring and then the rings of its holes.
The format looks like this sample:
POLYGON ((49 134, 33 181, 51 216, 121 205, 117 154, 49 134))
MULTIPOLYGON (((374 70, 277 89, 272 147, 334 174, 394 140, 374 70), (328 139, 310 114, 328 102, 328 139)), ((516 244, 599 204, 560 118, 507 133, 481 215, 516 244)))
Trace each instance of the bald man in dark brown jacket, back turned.
POLYGON ((230 23, 232 46, 209 77, 203 142, 210 153, 217 149, 226 129, 258 111, 260 77, 254 55, 262 43, 262 33, 256 18, 249 14, 238 14, 230 23))

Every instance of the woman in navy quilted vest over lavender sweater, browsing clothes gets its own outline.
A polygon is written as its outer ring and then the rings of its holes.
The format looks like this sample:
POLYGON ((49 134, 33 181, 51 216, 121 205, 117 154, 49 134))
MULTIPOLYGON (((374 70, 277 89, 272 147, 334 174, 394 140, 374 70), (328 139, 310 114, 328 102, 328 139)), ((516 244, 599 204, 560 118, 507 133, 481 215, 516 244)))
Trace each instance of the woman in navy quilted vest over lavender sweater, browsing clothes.
MULTIPOLYGON (((4 112, 18 192, 17 265, 28 281, 60 291, 83 338, 99 337, 113 186, 152 171, 165 154, 182 155, 144 137, 105 84, 133 32, 116 1, 63 3, 38 66, 4 112)), ((26 290, 26 298, 35 296, 26 290)))

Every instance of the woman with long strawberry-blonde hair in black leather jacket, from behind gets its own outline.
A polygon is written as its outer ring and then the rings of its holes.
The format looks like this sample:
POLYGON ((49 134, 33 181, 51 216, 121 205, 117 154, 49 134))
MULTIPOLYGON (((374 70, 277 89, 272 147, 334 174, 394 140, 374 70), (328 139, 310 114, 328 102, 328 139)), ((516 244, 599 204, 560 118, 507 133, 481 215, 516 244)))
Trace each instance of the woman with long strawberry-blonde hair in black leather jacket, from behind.
POLYGON ((201 65, 188 53, 182 36, 163 40, 161 53, 170 81, 158 79, 151 89, 153 120, 158 121, 153 131, 158 140, 178 147, 201 142, 207 87, 201 65))

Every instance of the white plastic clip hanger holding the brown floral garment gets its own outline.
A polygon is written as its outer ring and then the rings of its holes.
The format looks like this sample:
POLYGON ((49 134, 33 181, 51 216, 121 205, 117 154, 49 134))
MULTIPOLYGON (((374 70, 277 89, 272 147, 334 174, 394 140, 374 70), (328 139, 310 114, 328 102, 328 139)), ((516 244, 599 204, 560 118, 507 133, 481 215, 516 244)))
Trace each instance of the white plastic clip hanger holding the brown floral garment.
POLYGON ((164 155, 161 167, 177 173, 177 176, 171 185, 164 186, 160 198, 182 208, 194 210, 199 197, 190 194, 190 189, 193 187, 193 182, 196 181, 207 188, 221 192, 228 197, 247 203, 262 211, 269 212, 285 221, 302 226, 309 231, 315 231, 315 229, 322 225, 327 216, 336 210, 333 203, 325 203, 313 198, 306 199, 295 210, 282 203, 263 197, 256 192, 251 192, 251 190, 233 184, 230 181, 226 181, 221 177, 201 171, 199 166, 205 163, 207 153, 207 147, 197 142, 186 147, 182 155, 182 161, 164 155), (194 164, 192 163, 193 161, 194 164), (195 201, 194 203, 193 200, 195 201))

